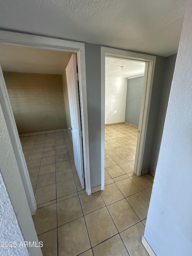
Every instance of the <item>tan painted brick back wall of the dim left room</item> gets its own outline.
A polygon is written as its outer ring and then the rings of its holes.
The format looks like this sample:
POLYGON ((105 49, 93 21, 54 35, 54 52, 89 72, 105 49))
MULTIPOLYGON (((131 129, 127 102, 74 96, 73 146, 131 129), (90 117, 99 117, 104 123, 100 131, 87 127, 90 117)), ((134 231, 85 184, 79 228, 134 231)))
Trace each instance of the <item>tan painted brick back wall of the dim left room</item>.
POLYGON ((67 128, 62 75, 3 75, 19 134, 67 128))

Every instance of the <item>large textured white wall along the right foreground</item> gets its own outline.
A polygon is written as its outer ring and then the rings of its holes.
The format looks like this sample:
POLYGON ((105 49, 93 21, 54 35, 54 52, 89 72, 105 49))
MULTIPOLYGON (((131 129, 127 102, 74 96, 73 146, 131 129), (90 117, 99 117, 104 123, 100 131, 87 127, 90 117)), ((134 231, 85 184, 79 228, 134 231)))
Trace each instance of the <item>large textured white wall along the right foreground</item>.
POLYGON ((192 255, 191 13, 188 1, 144 233, 157 256, 192 255))

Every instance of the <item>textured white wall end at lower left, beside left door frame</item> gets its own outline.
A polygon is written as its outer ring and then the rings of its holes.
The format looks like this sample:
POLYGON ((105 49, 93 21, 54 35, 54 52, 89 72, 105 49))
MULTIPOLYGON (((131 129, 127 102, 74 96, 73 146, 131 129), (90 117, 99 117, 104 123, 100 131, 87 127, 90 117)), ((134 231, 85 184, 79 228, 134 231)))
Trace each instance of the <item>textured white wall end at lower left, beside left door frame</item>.
MULTIPOLYGON (((36 241, 38 237, 0 104, 0 242, 36 241), (9 192, 9 194, 7 193, 9 192)), ((0 248, 0 255, 42 256, 39 247, 0 248)))

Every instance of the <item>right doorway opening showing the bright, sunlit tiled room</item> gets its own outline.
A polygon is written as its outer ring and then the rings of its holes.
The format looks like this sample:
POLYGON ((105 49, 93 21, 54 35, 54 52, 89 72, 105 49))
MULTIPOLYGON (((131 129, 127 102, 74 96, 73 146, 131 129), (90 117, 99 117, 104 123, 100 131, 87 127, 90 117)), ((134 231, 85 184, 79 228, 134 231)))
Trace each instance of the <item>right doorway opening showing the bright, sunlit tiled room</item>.
POLYGON ((135 175, 145 65, 105 57, 105 184, 135 175))

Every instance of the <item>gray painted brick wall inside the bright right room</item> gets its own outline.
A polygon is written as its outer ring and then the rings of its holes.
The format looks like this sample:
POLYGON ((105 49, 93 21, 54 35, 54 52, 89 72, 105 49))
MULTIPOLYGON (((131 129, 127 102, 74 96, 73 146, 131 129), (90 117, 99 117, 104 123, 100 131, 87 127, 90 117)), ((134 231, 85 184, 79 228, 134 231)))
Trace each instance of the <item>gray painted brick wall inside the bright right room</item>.
POLYGON ((136 77, 128 79, 127 82, 125 122, 137 126, 139 126, 143 79, 144 76, 136 77))

